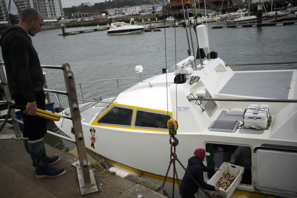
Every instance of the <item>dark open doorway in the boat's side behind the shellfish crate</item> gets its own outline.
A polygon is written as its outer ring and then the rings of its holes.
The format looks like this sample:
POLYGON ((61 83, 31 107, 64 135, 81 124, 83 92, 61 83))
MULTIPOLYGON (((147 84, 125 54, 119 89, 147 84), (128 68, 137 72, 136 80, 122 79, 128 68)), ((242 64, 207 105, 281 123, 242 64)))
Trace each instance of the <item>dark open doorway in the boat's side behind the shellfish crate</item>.
MULTIPOLYGON (((206 156, 207 166, 219 168, 224 162, 233 161, 234 165, 244 167, 240 183, 252 184, 252 149, 250 147, 207 143, 206 151, 210 153, 210 156, 206 156)), ((207 174, 209 179, 213 175, 214 172, 207 174)))

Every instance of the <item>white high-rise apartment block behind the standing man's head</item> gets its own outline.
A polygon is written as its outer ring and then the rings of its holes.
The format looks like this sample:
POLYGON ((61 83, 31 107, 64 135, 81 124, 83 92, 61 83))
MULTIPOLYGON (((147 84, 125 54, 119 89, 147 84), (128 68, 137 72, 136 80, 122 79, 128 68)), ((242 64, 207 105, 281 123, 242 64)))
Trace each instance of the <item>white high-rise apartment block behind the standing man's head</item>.
POLYGON ((21 11, 30 7, 37 9, 44 19, 57 19, 64 16, 62 0, 15 0, 15 3, 21 11))

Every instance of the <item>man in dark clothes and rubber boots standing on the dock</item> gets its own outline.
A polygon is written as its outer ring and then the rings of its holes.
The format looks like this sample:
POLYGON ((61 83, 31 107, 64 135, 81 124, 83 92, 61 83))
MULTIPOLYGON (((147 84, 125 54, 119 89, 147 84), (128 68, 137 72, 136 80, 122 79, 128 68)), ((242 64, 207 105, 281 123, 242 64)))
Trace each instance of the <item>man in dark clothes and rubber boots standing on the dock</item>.
POLYGON ((45 83, 38 54, 31 38, 41 31, 43 17, 34 8, 25 9, 17 27, 7 28, 0 39, 8 87, 16 105, 27 106, 23 113, 23 139, 30 154, 36 177, 58 177, 64 168, 51 166, 59 156, 46 156, 43 137, 47 131, 46 120, 36 117, 37 108, 45 110, 45 83))

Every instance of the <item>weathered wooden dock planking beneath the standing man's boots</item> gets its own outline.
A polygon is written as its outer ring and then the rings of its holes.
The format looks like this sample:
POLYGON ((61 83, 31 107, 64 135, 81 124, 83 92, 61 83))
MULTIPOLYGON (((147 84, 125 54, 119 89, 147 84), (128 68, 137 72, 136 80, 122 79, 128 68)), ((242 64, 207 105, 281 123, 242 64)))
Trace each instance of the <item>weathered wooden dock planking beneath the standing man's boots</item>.
MULTIPOLYGON (((1 135, 11 133, 14 131, 5 127, 1 131, 1 135)), ((45 149, 49 156, 54 154, 60 156, 61 160, 55 166, 64 167, 66 174, 57 178, 37 179, 23 141, 0 140, 0 197, 82 197, 76 168, 71 165, 78 161, 78 158, 49 145, 45 145, 45 149)), ((84 198, 166 197, 105 169, 95 168, 94 175, 99 191, 84 195, 84 198)))

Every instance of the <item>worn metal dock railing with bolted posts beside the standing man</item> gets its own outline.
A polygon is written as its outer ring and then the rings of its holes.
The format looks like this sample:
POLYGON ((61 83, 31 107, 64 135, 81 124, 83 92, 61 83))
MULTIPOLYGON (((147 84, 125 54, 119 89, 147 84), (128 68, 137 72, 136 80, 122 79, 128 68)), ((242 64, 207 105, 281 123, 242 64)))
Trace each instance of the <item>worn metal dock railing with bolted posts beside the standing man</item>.
MULTIPOLYGON (((4 63, 0 63, 0 64, 4 65, 4 63)), ((71 141, 76 144, 79 161, 74 162, 72 165, 75 166, 76 170, 77 170, 77 176, 78 176, 78 181, 79 181, 79 185, 80 185, 80 194, 85 195, 85 194, 89 194, 92 192, 97 192, 98 187, 97 187, 96 180, 95 180, 95 177, 93 174, 93 170, 89 169, 89 165, 88 165, 87 152, 86 152, 86 147, 84 144, 84 135, 83 135, 83 130, 82 130, 81 121, 80 121, 81 120, 80 110, 79 110, 78 100, 77 100, 77 95, 76 95, 74 76, 73 76, 73 72, 70 70, 70 65, 68 63, 64 62, 62 64, 62 67, 61 66, 41 66, 41 67, 49 68, 49 69, 63 70, 67 91, 63 92, 63 91, 57 91, 57 90, 52 90, 52 89, 47 89, 47 88, 44 88, 44 91, 48 92, 48 93, 62 94, 62 95, 65 95, 68 97, 71 117, 70 116, 62 116, 62 117, 72 120, 75 140, 65 137, 65 136, 61 136, 61 135, 56 134, 51 131, 47 131, 47 132, 54 136, 71 141)), ((2 87, 3 87, 4 93, 6 95, 7 104, 8 105, 12 104, 11 95, 10 95, 10 92, 9 92, 9 89, 7 86, 6 76, 5 76, 3 67, 0 68, 0 77, 1 77, 2 87)), ((14 109, 11 109, 11 118, 12 118, 11 121, 13 121, 14 127, 15 127, 16 139, 19 140, 22 138, 22 134, 19 129, 18 123, 23 123, 23 122, 18 121, 16 119, 16 114, 15 114, 14 109)), ((0 136, 0 139, 1 139, 1 136, 0 136)), ((9 139, 11 139, 11 137, 9 139)))

